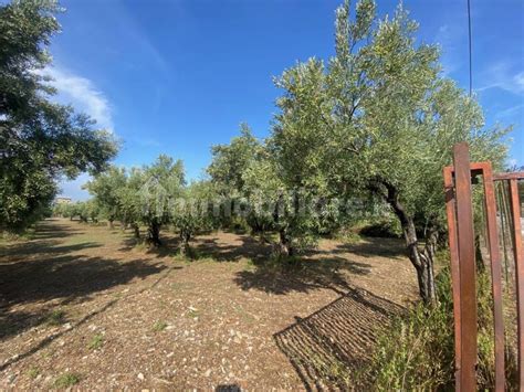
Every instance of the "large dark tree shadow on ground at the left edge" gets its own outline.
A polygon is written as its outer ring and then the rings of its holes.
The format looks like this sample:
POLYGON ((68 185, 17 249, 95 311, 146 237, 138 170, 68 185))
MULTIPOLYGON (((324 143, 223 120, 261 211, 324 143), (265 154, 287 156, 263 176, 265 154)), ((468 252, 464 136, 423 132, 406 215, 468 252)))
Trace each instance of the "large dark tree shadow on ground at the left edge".
POLYGON ((92 294, 165 268, 161 263, 144 259, 122 263, 74 255, 2 263, 0 340, 44 322, 53 308, 82 303, 92 294))

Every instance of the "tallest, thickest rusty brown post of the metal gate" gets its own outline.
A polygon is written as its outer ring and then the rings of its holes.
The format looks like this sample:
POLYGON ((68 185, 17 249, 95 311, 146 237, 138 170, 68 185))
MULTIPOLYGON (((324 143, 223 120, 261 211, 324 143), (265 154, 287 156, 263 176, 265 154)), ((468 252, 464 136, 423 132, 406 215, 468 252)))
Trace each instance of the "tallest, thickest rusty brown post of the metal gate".
POLYGON ((476 389, 476 289, 471 169, 468 144, 453 148, 457 190, 457 234, 460 261, 460 382, 461 391, 476 389))

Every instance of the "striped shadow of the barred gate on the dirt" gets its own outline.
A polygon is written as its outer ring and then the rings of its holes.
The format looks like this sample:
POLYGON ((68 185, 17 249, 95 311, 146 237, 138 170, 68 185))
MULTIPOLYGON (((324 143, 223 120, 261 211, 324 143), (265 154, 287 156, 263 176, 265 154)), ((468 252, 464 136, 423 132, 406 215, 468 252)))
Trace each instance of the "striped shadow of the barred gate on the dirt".
POLYGON ((377 336, 405 308, 360 289, 346 295, 273 335, 306 390, 365 389, 361 370, 377 336))

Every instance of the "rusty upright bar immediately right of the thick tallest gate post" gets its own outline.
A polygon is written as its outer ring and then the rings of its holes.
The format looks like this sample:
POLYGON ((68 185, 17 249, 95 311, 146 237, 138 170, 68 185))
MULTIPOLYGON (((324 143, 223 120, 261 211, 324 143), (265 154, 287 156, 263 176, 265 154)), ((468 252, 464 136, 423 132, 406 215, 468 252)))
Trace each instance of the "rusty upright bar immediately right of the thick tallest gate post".
POLYGON ((495 341, 495 391, 504 391, 504 315, 502 309, 502 263, 496 223, 496 200, 491 162, 483 169, 484 205, 488 226, 488 246, 491 261, 493 293, 493 324, 495 341))

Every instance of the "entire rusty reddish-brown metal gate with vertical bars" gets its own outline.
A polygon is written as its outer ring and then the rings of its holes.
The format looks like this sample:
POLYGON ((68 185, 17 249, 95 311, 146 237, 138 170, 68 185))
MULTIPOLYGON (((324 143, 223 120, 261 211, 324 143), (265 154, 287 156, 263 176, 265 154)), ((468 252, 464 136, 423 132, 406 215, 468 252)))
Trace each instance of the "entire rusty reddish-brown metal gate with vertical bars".
MULTIPOLYGON (((470 162, 467 144, 454 146, 453 166, 446 167, 444 188, 451 255, 453 316, 455 335, 455 385, 458 391, 476 388, 476 289, 475 232, 473 225, 472 178, 481 178, 484 201, 485 243, 491 266, 494 321, 495 390, 504 391, 504 314, 502 263, 495 186, 507 187, 511 244, 514 259, 517 322, 517 383, 524 391, 524 253, 518 180, 524 172, 493 173, 491 162, 470 162)), ((510 306, 514 306, 510 304, 510 306)))

